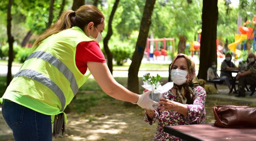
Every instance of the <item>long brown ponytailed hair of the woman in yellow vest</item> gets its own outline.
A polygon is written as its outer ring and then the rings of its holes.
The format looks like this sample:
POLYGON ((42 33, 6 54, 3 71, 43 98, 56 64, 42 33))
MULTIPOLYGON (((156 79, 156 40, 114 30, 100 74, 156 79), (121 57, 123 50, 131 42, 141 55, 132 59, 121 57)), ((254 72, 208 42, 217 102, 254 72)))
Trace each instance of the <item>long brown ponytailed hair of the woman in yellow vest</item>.
POLYGON ((73 26, 78 26, 83 30, 89 22, 93 22, 96 27, 103 21, 104 15, 93 5, 83 5, 77 9, 77 11, 67 10, 61 14, 61 17, 54 25, 46 29, 46 31, 37 38, 33 47, 37 47, 45 38, 52 34, 59 33, 60 31, 69 29, 73 26))

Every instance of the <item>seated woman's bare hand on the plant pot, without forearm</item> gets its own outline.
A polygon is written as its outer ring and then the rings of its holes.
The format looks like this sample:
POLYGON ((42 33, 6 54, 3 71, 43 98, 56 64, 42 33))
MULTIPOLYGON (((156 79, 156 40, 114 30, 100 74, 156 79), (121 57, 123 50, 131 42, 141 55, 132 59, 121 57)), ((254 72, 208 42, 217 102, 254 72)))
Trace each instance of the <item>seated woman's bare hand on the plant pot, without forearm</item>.
POLYGON ((160 101, 158 103, 162 105, 158 107, 158 109, 160 109, 159 110, 160 112, 177 110, 177 107, 179 107, 179 105, 181 104, 181 103, 178 103, 169 99, 164 99, 164 98, 160 98, 160 101))

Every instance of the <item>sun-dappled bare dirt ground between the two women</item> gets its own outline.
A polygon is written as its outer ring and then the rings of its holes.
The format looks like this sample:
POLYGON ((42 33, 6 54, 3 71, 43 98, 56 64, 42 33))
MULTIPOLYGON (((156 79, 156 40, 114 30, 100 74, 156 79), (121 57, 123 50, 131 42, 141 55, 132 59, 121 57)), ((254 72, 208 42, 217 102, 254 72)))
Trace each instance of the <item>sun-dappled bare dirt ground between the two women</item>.
POLYGON ((67 114, 64 137, 53 141, 150 141, 156 124, 143 121, 144 110, 125 107, 123 102, 105 99, 88 112, 67 114))

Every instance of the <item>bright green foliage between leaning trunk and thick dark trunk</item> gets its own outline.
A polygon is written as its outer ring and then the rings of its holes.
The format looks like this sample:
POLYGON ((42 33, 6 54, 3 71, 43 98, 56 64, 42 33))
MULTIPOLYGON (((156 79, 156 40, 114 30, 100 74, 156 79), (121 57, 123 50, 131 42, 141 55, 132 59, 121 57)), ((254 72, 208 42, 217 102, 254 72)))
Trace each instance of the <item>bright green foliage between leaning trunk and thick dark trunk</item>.
POLYGON ((193 0, 191 4, 187 0, 173 0, 165 4, 159 1, 154 7, 150 29, 155 38, 175 37, 177 40, 179 36, 185 35, 192 41, 195 32, 201 28, 201 13, 201 0, 193 0))

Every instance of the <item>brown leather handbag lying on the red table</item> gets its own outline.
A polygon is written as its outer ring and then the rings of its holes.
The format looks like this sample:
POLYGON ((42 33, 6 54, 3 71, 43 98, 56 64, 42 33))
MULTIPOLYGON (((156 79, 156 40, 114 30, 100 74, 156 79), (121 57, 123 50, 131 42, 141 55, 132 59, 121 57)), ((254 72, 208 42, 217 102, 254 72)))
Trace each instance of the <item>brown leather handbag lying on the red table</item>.
POLYGON ((248 106, 214 106, 214 125, 224 128, 256 127, 256 108, 248 106))

